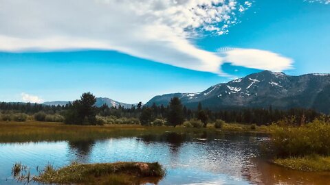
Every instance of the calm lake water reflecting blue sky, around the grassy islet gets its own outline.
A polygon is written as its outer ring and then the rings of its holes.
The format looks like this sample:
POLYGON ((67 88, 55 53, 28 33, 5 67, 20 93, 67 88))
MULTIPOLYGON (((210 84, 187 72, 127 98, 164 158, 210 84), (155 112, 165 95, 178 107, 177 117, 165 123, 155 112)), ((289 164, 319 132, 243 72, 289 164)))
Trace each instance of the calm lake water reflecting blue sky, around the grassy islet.
MULTIPOLYGON (((265 136, 201 134, 199 138, 166 133, 141 138, 111 138, 79 142, 0 144, 0 184, 12 179, 15 162, 36 168, 73 161, 158 161, 167 175, 159 184, 329 184, 330 173, 304 173, 265 162, 259 144, 265 136)), ((32 183, 33 184, 33 183, 32 183)))

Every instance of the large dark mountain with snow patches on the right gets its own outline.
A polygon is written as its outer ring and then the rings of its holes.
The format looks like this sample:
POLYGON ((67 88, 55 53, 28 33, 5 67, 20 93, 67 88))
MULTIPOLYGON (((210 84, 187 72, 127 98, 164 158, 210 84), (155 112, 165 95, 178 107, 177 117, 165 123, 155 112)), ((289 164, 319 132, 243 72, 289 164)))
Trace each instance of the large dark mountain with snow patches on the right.
POLYGON ((330 113, 330 74, 290 76, 263 71, 228 83, 211 86, 201 93, 175 93, 153 97, 146 106, 157 106, 179 97, 188 108, 314 108, 330 113))

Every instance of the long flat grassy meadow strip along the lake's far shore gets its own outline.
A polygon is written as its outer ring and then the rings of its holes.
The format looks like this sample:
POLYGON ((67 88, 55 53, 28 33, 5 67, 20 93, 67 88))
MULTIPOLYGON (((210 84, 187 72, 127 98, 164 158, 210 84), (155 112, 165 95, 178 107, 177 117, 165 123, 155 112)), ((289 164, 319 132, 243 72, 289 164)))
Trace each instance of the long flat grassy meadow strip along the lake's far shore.
POLYGON ((248 125, 225 124, 221 130, 214 129, 213 125, 207 128, 170 127, 142 125, 102 125, 83 126, 65 125, 63 123, 49 123, 39 121, 0 122, 0 143, 15 143, 28 141, 56 141, 56 140, 95 140, 105 138, 142 136, 145 134, 164 134, 165 132, 201 133, 201 132, 262 132, 256 128, 252 130, 248 125))

